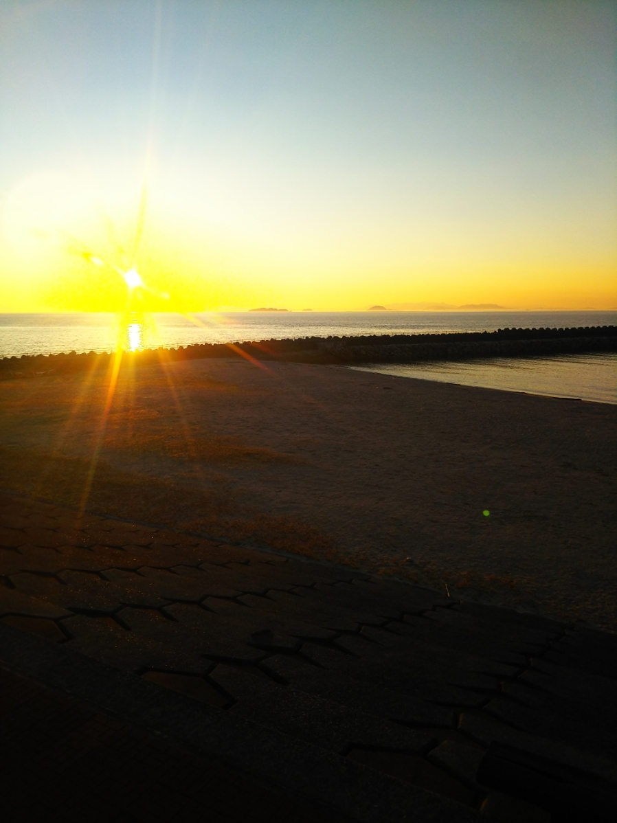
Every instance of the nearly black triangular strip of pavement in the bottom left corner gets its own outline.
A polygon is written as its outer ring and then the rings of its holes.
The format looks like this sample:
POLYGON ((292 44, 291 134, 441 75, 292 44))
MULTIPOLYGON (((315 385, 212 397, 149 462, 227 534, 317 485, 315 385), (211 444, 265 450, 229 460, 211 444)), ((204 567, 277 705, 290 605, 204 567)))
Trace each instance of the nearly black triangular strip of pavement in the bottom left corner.
POLYGON ((7 821, 342 820, 4 670, 0 718, 7 821))

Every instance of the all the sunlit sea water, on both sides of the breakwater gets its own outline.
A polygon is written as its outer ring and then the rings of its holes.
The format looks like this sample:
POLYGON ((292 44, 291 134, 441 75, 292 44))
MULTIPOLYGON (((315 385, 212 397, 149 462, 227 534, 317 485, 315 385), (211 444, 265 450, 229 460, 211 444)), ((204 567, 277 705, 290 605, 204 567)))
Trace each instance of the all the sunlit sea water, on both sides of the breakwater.
MULTIPOLYGON (((343 337, 499 328, 617 324, 617 311, 354 311, 199 314, 0 314, 0 357, 66 351, 135 351, 202 342, 343 337)), ((466 362, 367 364, 364 370, 505 391, 617 403, 617 355, 487 358, 466 362)))

